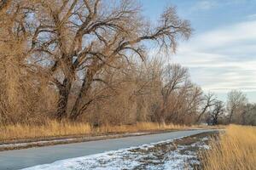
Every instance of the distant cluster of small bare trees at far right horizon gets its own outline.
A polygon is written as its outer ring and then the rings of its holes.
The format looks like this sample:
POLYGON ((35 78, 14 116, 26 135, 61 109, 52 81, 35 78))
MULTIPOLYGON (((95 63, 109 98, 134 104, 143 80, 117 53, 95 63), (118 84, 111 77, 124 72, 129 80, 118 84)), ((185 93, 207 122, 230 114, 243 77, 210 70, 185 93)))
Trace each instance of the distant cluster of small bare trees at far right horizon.
POLYGON ((205 104, 197 122, 216 124, 256 125, 256 105, 249 103, 246 94, 238 90, 228 93, 226 103, 215 94, 205 95, 205 104))

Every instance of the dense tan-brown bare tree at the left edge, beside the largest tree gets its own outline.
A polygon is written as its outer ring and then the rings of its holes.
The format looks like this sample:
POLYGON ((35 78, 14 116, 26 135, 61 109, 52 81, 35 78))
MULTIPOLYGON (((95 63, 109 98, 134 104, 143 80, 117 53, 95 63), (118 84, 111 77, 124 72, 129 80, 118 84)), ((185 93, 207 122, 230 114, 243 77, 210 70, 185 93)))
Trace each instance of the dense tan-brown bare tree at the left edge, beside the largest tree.
POLYGON ((48 80, 34 74, 28 65, 27 20, 33 1, 0 3, 0 122, 37 120, 54 108, 55 93, 48 80), (49 95, 50 94, 50 95, 49 95), (50 103, 50 105, 49 105, 50 103), (51 108, 51 109, 49 109, 51 108))

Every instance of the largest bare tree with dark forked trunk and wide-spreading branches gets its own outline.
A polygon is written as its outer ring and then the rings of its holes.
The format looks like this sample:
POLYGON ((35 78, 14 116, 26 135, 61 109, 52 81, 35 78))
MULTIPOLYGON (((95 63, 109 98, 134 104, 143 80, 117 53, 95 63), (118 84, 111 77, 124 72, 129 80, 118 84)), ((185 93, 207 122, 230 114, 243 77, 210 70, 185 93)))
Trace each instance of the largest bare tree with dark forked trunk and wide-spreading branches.
MULTIPOLYGON (((12 1, 20 8, 20 2, 12 1)), ((20 30, 26 34, 29 66, 49 78, 59 91, 58 111, 67 117, 67 105, 73 84, 81 82, 79 93, 71 104, 69 117, 75 120, 91 103, 88 99, 94 77, 120 58, 134 53, 144 58, 144 41, 154 41, 161 48, 175 51, 179 38, 189 38, 187 20, 177 16, 175 8, 166 8, 158 26, 150 26, 140 16, 133 1, 109 5, 100 0, 32 1, 26 7, 20 30)))

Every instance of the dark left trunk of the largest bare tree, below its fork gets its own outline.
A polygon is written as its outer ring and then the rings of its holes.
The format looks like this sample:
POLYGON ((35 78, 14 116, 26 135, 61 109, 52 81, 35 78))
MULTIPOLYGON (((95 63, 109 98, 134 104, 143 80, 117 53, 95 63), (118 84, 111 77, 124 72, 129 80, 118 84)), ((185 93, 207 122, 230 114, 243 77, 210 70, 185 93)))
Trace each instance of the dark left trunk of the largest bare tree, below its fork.
POLYGON ((67 117, 67 102, 68 102, 68 95, 70 93, 72 82, 65 78, 61 87, 59 87, 59 102, 58 102, 58 109, 55 114, 57 120, 61 121, 63 118, 67 117))

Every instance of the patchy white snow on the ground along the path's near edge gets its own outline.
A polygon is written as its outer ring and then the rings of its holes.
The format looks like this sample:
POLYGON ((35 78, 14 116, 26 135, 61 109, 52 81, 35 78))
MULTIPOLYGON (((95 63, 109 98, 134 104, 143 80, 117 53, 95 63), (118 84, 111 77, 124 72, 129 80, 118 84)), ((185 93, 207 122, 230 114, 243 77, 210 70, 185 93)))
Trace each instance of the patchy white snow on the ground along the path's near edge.
POLYGON ((51 164, 28 167, 24 170, 193 169, 190 164, 200 164, 200 162, 197 160, 195 151, 186 149, 191 146, 207 149, 206 146, 201 146, 204 144, 204 140, 207 139, 201 139, 191 145, 177 145, 176 150, 169 150, 171 146, 173 147, 173 140, 166 140, 123 150, 113 150, 91 156, 55 161, 51 164), (165 151, 162 150, 163 148, 159 149, 161 147, 164 147, 165 151))

